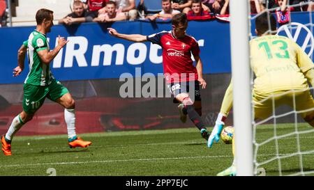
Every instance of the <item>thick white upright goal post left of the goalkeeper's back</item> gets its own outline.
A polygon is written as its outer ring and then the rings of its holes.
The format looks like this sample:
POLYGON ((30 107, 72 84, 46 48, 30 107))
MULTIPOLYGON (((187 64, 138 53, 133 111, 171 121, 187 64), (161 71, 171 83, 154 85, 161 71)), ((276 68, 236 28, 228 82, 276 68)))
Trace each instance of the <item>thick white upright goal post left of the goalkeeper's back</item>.
POLYGON ((248 0, 230 0, 233 120, 237 175, 253 175, 253 127, 248 0))

